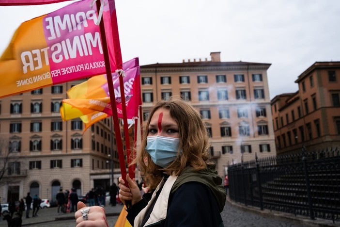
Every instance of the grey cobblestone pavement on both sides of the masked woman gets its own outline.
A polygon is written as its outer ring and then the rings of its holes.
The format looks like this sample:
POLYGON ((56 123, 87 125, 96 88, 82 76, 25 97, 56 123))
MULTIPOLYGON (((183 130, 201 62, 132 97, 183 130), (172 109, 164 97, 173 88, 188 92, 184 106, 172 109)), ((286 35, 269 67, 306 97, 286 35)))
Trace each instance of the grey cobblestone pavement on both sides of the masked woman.
MULTIPOLYGON (((123 206, 106 206, 110 227, 114 227, 123 206)), ((74 213, 57 214, 57 208, 42 209, 39 217, 23 218, 23 226, 30 227, 75 227, 74 213)), ((251 207, 244 208, 241 204, 231 202, 229 199, 221 213, 225 227, 306 227, 306 226, 337 226, 331 221, 311 221, 308 217, 294 217, 294 215, 275 212, 259 211, 251 207), (292 217, 293 216, 293 217, 292 217)), ((339 224, 339 223, 338 223, 339 224)), ((1 220, 0 227, 7 227, 7 222, 1 220)))

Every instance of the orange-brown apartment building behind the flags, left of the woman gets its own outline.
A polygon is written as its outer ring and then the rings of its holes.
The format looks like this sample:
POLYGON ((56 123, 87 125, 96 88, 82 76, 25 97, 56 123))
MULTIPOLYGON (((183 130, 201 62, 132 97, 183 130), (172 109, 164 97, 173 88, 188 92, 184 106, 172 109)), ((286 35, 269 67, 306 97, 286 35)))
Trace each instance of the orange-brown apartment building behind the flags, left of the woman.
POLYGON ((110 164, 119 176, 116 139, 111 140, 111 118, 83 133, 78 119, 63 122, 59 109, 66 91, 83 82, 72 81, 0 99, 1 202, 15 201, 27 192, 55 199, 62 187, 85 195, 91 188, 108 188, 110 164), (113 155, 110 155, 113 147, 113 155), (7 156, 10 151, 9 156, 7 156))

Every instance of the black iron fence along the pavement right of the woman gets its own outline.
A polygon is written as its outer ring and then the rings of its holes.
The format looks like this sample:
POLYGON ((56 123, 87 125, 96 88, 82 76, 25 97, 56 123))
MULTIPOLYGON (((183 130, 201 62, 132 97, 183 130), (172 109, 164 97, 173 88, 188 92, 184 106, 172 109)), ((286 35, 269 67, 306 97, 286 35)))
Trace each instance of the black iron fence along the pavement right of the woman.
POLYGON ((340 149, 241 162, 228 167, 230 198, 246 206, 340 221, 340 149))

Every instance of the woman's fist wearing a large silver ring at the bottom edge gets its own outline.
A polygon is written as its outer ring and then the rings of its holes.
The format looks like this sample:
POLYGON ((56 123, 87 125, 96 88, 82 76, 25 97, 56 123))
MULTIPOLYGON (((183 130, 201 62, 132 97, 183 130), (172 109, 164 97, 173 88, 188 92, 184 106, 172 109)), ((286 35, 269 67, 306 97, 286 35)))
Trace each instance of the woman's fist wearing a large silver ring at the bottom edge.
POLYGON ((77 203, 77 212, 75 213, 75 218, 77 220, 76 227, 92 227, 92 226, 103 226, 108 227, 108 221, 106 220, 105 210, 99 206, 86 207, 83 202, 77 203), (83 218, 83 213, 81 212, 85 208, 90 208, 87 212, 87 220, 83 218))

